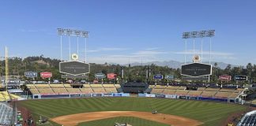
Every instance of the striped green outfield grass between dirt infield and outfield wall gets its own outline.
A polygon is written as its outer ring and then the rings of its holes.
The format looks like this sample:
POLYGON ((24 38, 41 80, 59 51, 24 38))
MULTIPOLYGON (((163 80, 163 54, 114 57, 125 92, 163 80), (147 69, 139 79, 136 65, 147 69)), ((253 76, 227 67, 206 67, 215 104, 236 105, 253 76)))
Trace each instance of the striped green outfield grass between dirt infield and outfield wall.
MULTIPOLYGON (((231 113, 244 111, 245 106, 220 102, 201 102, 168 98, 59 98, 19 102, 31 110, 33 117, 58 117, 72 113, 95 111, 145 111, 168 113, 217 126, 231 113)), ((49 125, 49 124, 47 124, 49 125)), ((53 124, 56 125, 56 124, 53 124)), ((103 124, 104 125, 104 124, 103 124)))

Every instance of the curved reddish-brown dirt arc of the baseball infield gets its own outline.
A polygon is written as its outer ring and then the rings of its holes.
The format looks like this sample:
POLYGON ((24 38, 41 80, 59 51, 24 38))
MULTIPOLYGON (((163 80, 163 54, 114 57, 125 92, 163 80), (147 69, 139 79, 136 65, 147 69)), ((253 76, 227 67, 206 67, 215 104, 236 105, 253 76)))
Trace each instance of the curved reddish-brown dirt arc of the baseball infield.
POLYGON ((179 117, 164 113, 152 114, 149 112, 137 112, 137 111, 104 111, 104 112, 92 112, 92 113, 77 113, 72 115, 66 115, 61 117, 51 118, 52 121, 62 124, 75 126, 77 124, 88 122, 92 120, 102 120, 111 117, 138 117, 145 120, 152 120, 163 124, 170 124, 172 126, 198 126, 203 124, 198 120, 193 120, 186 117, 179 117))

